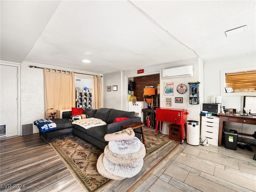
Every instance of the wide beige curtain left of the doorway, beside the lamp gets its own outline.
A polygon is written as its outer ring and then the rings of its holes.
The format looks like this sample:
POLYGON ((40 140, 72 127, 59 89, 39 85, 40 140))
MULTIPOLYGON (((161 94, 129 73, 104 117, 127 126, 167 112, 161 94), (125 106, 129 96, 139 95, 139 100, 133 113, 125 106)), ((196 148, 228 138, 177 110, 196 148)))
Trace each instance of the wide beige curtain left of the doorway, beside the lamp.
POLYGON ((44 69, 46 118, 51 112, 75 107, 74 72, 44 69))

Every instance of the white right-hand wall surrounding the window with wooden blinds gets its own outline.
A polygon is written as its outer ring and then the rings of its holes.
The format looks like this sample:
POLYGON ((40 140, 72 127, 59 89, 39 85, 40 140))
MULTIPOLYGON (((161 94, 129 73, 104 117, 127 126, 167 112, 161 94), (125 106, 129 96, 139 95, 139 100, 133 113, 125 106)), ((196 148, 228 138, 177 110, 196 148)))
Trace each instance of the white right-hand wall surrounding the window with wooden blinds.
MULTIPOLYGON (((204 63, 204 98, 210 102, 212 95, 220 95, 220 70, 256 66, 256 54, 213 60, 204 63)), ((246 94, 246 93, 244 93, 246 94)), ((242 111, 243 96, 222 96, 223 105, 226 108, 234 108, 242 111)), ((255 125, 238 124, 226 122, 229 129, 237 130, 247 134, 256 131, 255 125), (243 129, 242 129, 243 128, 243 129)))

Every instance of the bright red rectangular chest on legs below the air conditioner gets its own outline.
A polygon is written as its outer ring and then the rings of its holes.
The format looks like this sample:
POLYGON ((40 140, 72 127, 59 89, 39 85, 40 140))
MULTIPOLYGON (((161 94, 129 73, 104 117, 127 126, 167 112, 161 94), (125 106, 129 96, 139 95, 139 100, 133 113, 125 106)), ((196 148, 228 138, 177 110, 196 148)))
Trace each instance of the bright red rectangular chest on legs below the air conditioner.
POLYGON ((156 108, 156 134, 157 134, 157 127, 158 127, 159 121, 161 123, 159 133, 162 133, 163 122, 170 122, 170 123, 180 125, 180 140, 181 140, 181 144, 183 144, 184 124, 186 125, 188 114, 189 113, 187 112, 186 109, 174 109, 174 108, 164 108, 164 107, 156 108))

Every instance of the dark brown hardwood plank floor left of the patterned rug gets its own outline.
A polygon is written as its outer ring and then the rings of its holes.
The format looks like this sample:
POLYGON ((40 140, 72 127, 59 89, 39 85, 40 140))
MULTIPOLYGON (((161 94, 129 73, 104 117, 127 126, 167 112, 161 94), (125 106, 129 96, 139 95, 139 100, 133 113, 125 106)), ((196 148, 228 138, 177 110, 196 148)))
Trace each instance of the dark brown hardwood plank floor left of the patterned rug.
POLYGON ((0 142, 1 191, 83 191, 49 144, 39 136, 0 142))

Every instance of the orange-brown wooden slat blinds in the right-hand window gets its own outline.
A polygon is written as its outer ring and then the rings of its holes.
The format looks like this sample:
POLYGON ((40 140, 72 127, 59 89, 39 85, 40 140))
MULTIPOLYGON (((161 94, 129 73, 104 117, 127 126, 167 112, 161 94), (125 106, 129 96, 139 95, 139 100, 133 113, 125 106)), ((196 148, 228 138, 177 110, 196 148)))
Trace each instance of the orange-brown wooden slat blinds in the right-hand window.
POLYGON ((256 70, 226 73, 225 87, 231 87, 234 92, 254 92, 256 70))

